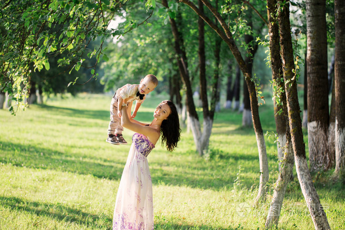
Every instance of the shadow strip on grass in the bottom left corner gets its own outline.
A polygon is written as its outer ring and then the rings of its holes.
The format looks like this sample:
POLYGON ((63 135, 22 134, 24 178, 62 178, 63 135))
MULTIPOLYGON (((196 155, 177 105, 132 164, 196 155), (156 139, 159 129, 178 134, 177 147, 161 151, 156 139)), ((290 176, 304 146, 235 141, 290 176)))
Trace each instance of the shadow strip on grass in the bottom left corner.
POLYGON ((106 229, 111 229, 112 226, 112 219, 104 214, 95 215, 79 209, 70 208, 60 203, 35 202, 17 197, 0 197, 0 205, 11 210, 28 212, 57 221, 76 223, 88 228, 100 228, 99 224, 97 224, 99 222, 106 223, 106 229))

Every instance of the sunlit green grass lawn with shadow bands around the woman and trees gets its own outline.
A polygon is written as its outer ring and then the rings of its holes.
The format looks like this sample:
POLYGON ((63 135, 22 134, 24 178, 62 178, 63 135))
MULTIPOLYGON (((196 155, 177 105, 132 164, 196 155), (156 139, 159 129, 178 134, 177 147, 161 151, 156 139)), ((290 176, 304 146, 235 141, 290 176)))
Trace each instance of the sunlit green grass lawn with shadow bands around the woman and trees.
MULTIPOLYGON (((111 228, 130 146, 105 142, 110 98, 56 97, 16 116, 0 110, 0 229, 111 228)), ((149 97, 137 119, 150 122, 163 99, 149 97)), ((262 126, 264 132, 275 131, 272 103, 266 102, 260 107, 262 126)), ((229 110, 216 114, 205 158, 197 155, 192 134, 185 129, 173 153, 156 145, 148 156, 155 229, 264 229, 277 177, 276 145, 266 137, 271 189, 268 201, 254 209, 257 145, 253 129, 242 128, 241 119, 229 110)), ((132 134, 124 131, 130 143, 132 134)), ((344 182, 333 181, 331 175, 312 176, 331 228, 345 229, 344 182)), ((278 229, 313 229, 296 173, 278 229)))

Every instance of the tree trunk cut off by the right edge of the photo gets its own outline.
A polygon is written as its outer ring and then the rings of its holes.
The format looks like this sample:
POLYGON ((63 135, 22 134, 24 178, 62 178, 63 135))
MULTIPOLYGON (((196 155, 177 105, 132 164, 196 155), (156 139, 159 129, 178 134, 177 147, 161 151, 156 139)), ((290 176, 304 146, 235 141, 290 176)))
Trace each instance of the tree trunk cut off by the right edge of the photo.
POLYGON ((335 95, 336 95, 336 170, 345 177, 345 1, 335 0, 335 95))

